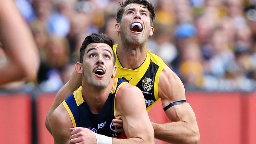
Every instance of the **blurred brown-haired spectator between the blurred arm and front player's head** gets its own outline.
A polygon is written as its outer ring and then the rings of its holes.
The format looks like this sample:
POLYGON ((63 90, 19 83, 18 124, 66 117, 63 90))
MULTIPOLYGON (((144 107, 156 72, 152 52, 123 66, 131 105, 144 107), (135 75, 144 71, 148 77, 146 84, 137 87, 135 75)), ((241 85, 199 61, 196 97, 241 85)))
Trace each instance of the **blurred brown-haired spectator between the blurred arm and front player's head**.
POLYGON ((40 64, 37 81, 44 92, 58 91, 63 86, 62 69, 69 63, 69 44, 65 37, 51 36, 45 48, 46 61, 40 64))

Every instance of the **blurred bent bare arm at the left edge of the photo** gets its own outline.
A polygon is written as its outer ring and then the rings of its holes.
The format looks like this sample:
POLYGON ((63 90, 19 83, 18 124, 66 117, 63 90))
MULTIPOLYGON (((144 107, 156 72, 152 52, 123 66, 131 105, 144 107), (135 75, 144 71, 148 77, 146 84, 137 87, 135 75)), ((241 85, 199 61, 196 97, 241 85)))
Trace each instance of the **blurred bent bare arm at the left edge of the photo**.
POLYGON ((32 33, 13 0, 0 0, 0 42, 7 61, 0 65, 0 85, 36 78, 39 56, 32 33))

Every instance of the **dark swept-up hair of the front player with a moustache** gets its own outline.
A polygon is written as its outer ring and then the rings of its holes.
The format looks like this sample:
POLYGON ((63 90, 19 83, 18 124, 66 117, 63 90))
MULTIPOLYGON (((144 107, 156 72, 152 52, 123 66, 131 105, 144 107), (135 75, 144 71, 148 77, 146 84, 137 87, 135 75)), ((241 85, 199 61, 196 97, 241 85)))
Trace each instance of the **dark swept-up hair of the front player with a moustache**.
MULTIPOLYGON (((104 33, 92 33, 91 35, 88 35, 85 37, 83 40, 83 44, 80 48, 80 63, 83 63, 83 55, 85 53, 85 48, 87 47, 88 44, 91 43, 105 43, 108 44, 113 51, 113 40, 111 37, 104 33)), ((113 59, 114 59, 114 65, 115 65, 115 53, 113 52, 113 59)))

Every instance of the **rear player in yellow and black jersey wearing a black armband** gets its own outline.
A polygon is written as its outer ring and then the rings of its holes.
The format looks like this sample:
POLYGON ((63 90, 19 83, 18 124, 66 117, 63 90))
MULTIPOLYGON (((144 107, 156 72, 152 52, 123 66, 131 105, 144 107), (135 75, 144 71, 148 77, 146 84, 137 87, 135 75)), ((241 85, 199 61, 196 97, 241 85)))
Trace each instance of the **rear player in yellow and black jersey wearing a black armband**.
MULTIPOLYGON (((200 139, 199 129, 193 109, 186 101, 182 81, 158 56, 147 51, 148 37, 154 32, 154 16, 154 7, 148 0, 126 0, 121 4, 115 24, 119 34, 118 45, 114 46, 116 76, 126 78, 141 89, 148 109, 161 99, 165 114, 171 122, 152 122, 155 138, 174 144, 197 144, 200 139)), ((80 85, 80 76, 73 73, 70 81, 56 95, 48 111, 46 127, 52 111, 80 85)), ((117 126, 120 121, 113 120, 117 126)))

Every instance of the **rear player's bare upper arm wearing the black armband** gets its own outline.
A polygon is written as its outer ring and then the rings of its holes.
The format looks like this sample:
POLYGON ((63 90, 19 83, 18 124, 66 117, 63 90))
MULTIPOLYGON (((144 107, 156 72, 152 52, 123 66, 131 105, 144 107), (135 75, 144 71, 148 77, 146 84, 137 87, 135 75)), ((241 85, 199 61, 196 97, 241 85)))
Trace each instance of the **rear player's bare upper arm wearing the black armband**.
MULTIPOLYGON (((182 81, 169 67, 165 67, 160 75, 159 96, 163 108, 170 103, 186 100, 185 88, 182 81)), ((171 122, 195 122, 195 114, 189 103, 174 105, 167 109, 165 114, 171 122)))

